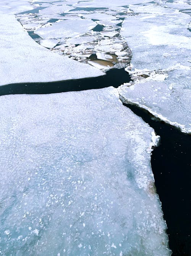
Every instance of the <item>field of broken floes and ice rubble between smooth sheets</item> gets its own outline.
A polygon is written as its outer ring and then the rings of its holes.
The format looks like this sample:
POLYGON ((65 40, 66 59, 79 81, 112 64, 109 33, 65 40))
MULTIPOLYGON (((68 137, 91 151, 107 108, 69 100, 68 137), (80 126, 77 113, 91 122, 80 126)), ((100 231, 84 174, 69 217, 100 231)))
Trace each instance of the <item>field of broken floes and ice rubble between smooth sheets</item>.
MULTIPOLYGON (((76 8, 73 1, 53 2, 47 8, 37 10, 34 13, 18 13, 17 18, 22 23, 24 28, 39 35, 41 38, 60 40, 60 46, 56 46, 52 51, 59 55, 69 56, 80 62, 90 63, 95 66, 90 56, 97 52, 103 54, 114 53, 117 50, 126 51, 127 45, 125 40, 119 34, 120 26, 124 13, 130 12, 127 6, 115 7, 122 5, 124 2, 113 2, 112 7, 97 8, 97 2, 93 4, 95 7, 90 8, 76 8), (117 11, 112 11, 110 8, 117 8, 117 11), (78 16, 77 16, 78 15, 78 16), (95 21, 95 22, 94 22, 95 21), (35 26, 36 24, 36 26, 35 26), (97 24, 102 25, 97 31, 97 24), (94 28, 94 30, 92 30, 94 28), (91 42, 84 41, 85 38, 92 38, 91 42), (112 41, 110 46, 99 46, 100 41, 110 38, 112 41), (79 40, 79 42, 78 42, 79 40), (116 41, 120 40, 120 48, 116 48, 116 41), (72 42, 75 41, 73 44, 72 42), (77 46, 76 45, 79 45, 77 46)), ((42 7, 40 2, 39 7, 42 7)), ((35 40, 41 44, 40 38, 35 40)), ((109 66, 123 68, 129 64, 129 57, 131 53, 127 53, 124 58, 117 57, 115 62, 96 64, 96 67, 104 71, 109 69, 109 66)), ((98 62, 98 60, 95 60, 98 62)))

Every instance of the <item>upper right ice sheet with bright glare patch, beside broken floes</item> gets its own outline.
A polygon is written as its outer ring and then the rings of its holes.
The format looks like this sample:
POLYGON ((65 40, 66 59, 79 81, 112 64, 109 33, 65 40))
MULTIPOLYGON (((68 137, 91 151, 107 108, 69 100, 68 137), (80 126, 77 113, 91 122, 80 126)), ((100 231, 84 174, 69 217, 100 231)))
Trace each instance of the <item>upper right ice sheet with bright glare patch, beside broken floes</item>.
POLYGON ((133 68, 157 70, 178 63, 190 65, 189 15, 153 4, 132 6, 132 10, 137 15, 125 19, 120 33, 133 52, 133 68))

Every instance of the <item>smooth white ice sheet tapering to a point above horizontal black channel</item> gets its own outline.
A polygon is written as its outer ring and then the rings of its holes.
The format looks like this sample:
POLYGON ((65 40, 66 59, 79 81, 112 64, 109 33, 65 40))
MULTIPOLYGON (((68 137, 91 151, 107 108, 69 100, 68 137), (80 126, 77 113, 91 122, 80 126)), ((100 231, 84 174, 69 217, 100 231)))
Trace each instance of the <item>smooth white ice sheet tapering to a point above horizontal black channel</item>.
POLYGON ((0 14, 0 85, 49 82, 103 75, 87 64, 50 52, 23 30, 13 15, 0 14))

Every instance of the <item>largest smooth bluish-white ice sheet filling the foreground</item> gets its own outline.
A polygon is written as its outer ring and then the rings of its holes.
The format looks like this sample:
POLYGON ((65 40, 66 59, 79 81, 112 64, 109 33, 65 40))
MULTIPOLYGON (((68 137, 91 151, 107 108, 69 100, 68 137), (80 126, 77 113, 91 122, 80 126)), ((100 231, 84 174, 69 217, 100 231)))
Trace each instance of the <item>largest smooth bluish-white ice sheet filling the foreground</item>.
POLYGON ((0 102, 2 255, 170 255, 157 139, 116 89, 0 102))

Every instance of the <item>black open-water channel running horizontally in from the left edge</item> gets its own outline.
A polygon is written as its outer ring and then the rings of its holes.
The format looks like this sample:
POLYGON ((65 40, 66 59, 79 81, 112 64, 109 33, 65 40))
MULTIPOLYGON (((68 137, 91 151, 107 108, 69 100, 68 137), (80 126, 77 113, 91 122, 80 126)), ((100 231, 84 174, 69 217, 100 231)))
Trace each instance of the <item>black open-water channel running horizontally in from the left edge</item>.
POLYGON ((68 91, 83 91, 113 86, 118 88, 121 84, 130 81, 129 74, 124 68, 113 68, 104 76, 93 78, 73 79, 49 83, 18 83, 0 86, 0 95, 7 94, 49 94, 68 91))

